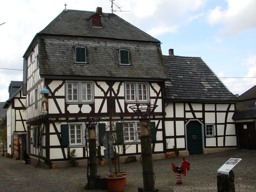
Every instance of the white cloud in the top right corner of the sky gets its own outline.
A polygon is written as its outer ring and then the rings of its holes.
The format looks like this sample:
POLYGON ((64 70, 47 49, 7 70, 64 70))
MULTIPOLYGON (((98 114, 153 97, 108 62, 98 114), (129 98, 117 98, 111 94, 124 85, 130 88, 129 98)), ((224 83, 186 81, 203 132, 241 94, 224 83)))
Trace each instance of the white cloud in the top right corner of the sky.
POLYGON ((217 6, 209 11, 208 22, 224 24, 218 35, 236 36, 247 30, 256 29, 255 0, 226 0, 228 8, 217 6))

